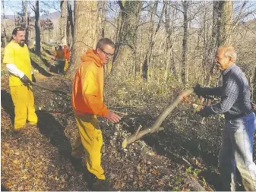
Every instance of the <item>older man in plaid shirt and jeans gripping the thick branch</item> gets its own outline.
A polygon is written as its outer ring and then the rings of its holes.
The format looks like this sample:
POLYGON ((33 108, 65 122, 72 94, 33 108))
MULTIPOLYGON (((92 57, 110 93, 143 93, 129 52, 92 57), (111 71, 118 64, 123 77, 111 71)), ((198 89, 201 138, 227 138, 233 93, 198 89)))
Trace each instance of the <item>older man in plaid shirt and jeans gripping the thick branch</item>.
POLYGON ((256 165, 253 162, 255 115, 251 111, 248 80, 235 65, 236 53, 232 46, 220 46, 216 65, 223 71, 222 87, 207 88, 197 85, 198 96, 220 96, 220 102, 205 106, 198 114, 224 114, 225 127, 219 154, 223 190, 235 190, 235 167, 239 169, 245 190, 256 190, 256 165))

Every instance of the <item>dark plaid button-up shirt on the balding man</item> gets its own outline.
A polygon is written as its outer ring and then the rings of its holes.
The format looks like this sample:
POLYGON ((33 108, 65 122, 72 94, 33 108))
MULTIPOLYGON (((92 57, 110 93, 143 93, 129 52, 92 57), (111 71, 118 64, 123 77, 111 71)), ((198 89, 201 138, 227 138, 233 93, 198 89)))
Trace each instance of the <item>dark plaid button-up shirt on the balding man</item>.
POLYGON ((250 87, 245 74, 237 65, 223 71, 222 87, 213 88, 220 102, 205 107, 209 115, 224 114, 226 119, 251 112, 250 87))

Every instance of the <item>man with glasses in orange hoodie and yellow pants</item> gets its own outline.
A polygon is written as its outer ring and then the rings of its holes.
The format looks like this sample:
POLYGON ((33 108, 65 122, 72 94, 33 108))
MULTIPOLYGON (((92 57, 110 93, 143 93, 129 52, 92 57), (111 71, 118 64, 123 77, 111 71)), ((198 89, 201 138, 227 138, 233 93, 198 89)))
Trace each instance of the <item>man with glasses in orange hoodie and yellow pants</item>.
POLYGON ((108 38, 100 39, 96 49, 88 49, 81 57, 81 65, 74 77, 72 106, 79 129, 76 147, 72 156, 81 154, 81 143, 86 154, 86 165, 92 175, 92 190, 109 190, 101 166, 101 147, 103 136, 96 115, 112 122, 119 122, 120 117, 109 111, 103 103, 103 65, 114 54, 115 44, 108 38))

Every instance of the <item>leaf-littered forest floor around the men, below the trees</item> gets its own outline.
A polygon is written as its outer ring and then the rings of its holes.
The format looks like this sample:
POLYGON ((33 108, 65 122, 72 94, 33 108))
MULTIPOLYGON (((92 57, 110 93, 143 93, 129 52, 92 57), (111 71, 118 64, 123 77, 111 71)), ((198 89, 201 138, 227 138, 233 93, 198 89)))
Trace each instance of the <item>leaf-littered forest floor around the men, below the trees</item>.
MULTIPOLYGON (((49 72, 54 63, 49 50, 43 49, 42 58, 31 53, 31 58, 38 84, 71 93, 65 76, 49 72)), ((27 126, 25 134, 15 134, 14 105, 4 67, 1 86, 2 190, 88 190, 82 162, 74 164, 70 159, 78 134, 70 97, 33 87, 39 124, 37 128, 27 126)), ((129 80, 118 86, 106 83, 105 90, 109 109, 123 114, 120 124, 99 118, 104 140, 102 165, 115 190, 220 190, 217 151, 223 118, 201 123, 191 102, 182 102, 163 122, 164 131, 123 149, 122 141, 140 124, 143 128, 152 125, 182 90, 129 80)), ((199 102, 194 98, 189 99, 199 102)))

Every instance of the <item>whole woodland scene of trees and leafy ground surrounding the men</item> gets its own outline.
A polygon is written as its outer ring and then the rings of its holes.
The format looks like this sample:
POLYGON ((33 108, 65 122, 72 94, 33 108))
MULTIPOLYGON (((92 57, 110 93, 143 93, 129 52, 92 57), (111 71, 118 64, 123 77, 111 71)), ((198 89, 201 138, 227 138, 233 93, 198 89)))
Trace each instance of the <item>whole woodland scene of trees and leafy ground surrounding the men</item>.
MULTIPOLYGON (((217 100, 186 96, 163 121, 162 131, 127 148, 122 141, 138 127, 143 131, 152 126, 182 91, 196 83, 220 85, 214 55, 223 44, 235 47, 236 64, 248 77, 256 103, 255 2, 2 0, 1 26, 2 57, 11 31, 24 27, 37 83, 67 94, 81 55, 100 38, 115 42, 115 54, 104 67, 104 99, 123 118, 119 124, 99 119, 103 168, 116 190, 218 190, 224 118, 196 114, 197 106, 217 100), (10 9, 13 15, 6 14, 10 9), (50 71, 54 46, 61 43, 71 50, 63 76, 50 71)), ((2 187, 87 190, 83 166, 77 168, 68 158, 77 134, 70 97, 33 87, 43 124, 17 137, 11 133, 14 106, 5 65, 1 79, 2 187)))

